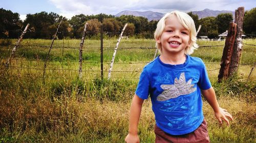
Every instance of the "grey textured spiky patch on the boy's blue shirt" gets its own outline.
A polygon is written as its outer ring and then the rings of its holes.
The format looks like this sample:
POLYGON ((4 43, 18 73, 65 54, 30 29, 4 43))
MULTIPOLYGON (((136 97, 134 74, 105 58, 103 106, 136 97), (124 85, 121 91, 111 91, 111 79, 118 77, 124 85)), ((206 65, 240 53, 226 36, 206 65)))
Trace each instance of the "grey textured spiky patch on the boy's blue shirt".
MULTIPOLYGON (((167 74, 166 74, 167 75, 167 74)), ((166 77, 166 75, 164 77, 166 77)), ((167 75, 168 76, 168 75, 167 75)), ((186 82, 185 73, 180 74, 180 78, 177 77, 174 80, 174 84, 161 84, 160 87, 164 90, 157 97, 157 101, 166 101, 171 98, 177 98, 181 95, 187 95, 196 91, 197 88, 193 88, 195 84, 191 84, 192 78, 186 82)))

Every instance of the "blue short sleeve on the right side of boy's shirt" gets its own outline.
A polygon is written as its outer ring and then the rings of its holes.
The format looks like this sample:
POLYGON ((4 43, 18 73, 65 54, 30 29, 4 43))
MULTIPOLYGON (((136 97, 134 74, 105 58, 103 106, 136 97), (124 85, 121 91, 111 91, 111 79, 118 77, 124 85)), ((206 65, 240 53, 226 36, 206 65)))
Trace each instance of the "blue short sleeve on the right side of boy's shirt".
POLYGON ((208 77, 208 73, 203 62, 202 62, 202 70, 201 70, 198 85, 201 90, 208 90, 209 88, 211 88, 211 83, 208 77))

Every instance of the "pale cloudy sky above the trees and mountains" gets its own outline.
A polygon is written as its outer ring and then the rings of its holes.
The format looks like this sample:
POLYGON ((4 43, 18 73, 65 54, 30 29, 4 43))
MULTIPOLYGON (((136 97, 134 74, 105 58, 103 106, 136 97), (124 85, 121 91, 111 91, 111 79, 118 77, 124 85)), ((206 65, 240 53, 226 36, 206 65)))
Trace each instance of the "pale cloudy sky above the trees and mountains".
POLYGON ((170 12, 180 10, 184 12, 199 11, 203 9, 211 10, 231 10, 234 11, 238 7, 244 6, 245 9, 251 9, 256 5, 254 0, 238 1, 238 0, 48 0, 60 10, 60 15, 71 18, 77 14, 112 14, 115 15, 123 10, 170 12), (247 8, 246 8, 247 7, 247 8))

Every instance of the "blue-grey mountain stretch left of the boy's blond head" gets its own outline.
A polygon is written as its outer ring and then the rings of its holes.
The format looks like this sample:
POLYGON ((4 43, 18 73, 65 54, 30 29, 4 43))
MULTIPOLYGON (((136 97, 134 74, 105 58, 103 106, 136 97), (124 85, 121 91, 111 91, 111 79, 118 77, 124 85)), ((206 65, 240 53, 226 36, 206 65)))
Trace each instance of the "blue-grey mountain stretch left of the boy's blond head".
POLYGON ((118 14, 116 14, 115 16, 116 17, 119 17, 121 15, 134 15, 134 16, 143 16, 143 17, 146 17, 148 19, 148 21, 151 21, 151 20, 159 20, 163 17, 163 13, 159 13, 159 12, 153 12, 153 11, 143 11, 143 12, 140 12, 140 11, 122 11, 122 12, 119 12, 118 14))

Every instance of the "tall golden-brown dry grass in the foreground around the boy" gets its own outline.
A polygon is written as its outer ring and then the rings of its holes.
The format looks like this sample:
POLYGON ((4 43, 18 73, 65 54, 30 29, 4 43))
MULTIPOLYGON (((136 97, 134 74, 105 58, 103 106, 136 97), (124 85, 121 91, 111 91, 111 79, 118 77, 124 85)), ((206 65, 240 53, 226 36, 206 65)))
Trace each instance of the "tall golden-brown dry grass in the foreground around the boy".
MULTIPOLYGON (((93 82, 97 82, 95 80, 93 82)), ((106 88, 112 89, 121 89, 124 83, 109 82, 113 83, 108 84, 106 88)), ((234 121, 229 127, 218 126, 214 112, 204 101, 204 115, 208 122, 211 142, 255 141, 255 82, 238 78, 236 83, 239 85, 236 92, 229 87, 216 86, 215 89, 221 107, 226 108, 233 115, 234 121), (248 85, 248 89, 243 90, 245 84, 248 85), (234 95, 229 95, 230 91, 234 95)), ((99 90, 94 93, 95 95, 87 95, 89 91, 79 87, 77 81, 73 82, 71 87, 59 85, 62 88, 59 90, 61 92, 53 91, 50 87, 36 87, 31 82, 14 84, 16 89, 9 84, 6 90, 1 88, 1 140, 3 142, 123 142, 128 130, 131 99, 136 88, 136 83, 134 84, 131 87, 123 87, 127 89, 118 92, 109 91, 110 95, 116 95, 115 98, 97 96, 101 92, 104 93, 105 89, 100 88, 102 84, 95 83, 89 84, 92 91, 99 90)), ((214 86, 216 84, 214 83, 214 86)), ((141 142, 154 142, 154 125, 151 102, 146 100, 139 124, 141 142)))

